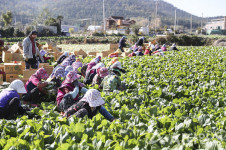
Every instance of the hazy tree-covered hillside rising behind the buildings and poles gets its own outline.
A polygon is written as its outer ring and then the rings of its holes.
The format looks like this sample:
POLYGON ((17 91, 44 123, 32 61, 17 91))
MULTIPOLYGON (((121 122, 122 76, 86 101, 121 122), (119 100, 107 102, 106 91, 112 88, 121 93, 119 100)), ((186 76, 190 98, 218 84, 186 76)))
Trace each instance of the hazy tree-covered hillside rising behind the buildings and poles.
MULTIPOLYGON (((1 0, 0 13, 11 10, 14 22, 23 24, 32 22, 47 8, 52 17, 64 16, 63 24, 89 24, 78 19, 91 18, 92 24, 102 23, 102 0, 1 0)), ((106 17, 115 15, 125 18, 147 19, 155 18, 154 0, 105 0, 106 17)), ((158 17, 162 24, 173 25, 175 7, 167 2, 160 1, 158 5, 158 17)), ((178 23, 190 27, 191 14, 177 10, 178 23)), ((193 27, 200 25, 200 18, 193 16, 193 27)))

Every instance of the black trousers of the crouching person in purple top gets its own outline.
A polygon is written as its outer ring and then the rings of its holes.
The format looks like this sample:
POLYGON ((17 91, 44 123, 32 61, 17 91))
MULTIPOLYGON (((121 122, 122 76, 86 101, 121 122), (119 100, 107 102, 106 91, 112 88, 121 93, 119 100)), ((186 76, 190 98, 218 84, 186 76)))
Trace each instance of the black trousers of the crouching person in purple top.
POLYGON ((12 119, 15 115, 23 110, 20 106, 20 99, 13 98, 4 108, 0 108, 0 119, 12 119))

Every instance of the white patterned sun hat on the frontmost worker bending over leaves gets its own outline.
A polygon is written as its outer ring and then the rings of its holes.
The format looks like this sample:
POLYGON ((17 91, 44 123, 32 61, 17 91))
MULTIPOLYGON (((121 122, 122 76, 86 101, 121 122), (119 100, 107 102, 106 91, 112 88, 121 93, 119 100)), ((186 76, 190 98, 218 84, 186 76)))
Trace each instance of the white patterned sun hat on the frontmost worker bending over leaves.
POLYGON ((88 90, 81 101, 89 103, 90 107, 98 107, 105 103, 100 92, 96 89, 88 90))

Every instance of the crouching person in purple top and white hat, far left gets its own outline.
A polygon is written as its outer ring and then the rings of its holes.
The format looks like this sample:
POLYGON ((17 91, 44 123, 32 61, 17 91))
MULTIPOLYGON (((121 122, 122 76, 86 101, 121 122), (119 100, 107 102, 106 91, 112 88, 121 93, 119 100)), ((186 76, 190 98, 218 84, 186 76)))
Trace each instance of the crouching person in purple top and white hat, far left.
POLYGON ((17 114, 23 114, 20 97, 27 93, 21 80, 14 80, 7 89, 0 93, 0 119, 12 119, 17 114))

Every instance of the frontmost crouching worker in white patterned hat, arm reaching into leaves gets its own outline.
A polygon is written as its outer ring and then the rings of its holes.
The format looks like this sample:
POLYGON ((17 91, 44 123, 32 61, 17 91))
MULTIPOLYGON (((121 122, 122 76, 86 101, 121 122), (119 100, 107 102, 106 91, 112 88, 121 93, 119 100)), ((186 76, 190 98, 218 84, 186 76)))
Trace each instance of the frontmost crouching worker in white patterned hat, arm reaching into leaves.
POLYGON ((101 115, 112 122, 114 117, 104 108, 104 104, 105 101, 101 97, 100 92, 96 89, 90 89, 78 103, 68 108, 64 116, 69 118, 70 116, 75 115, 78 118, 83 118, 87 115, 92 119, 99 111, 101 115))

